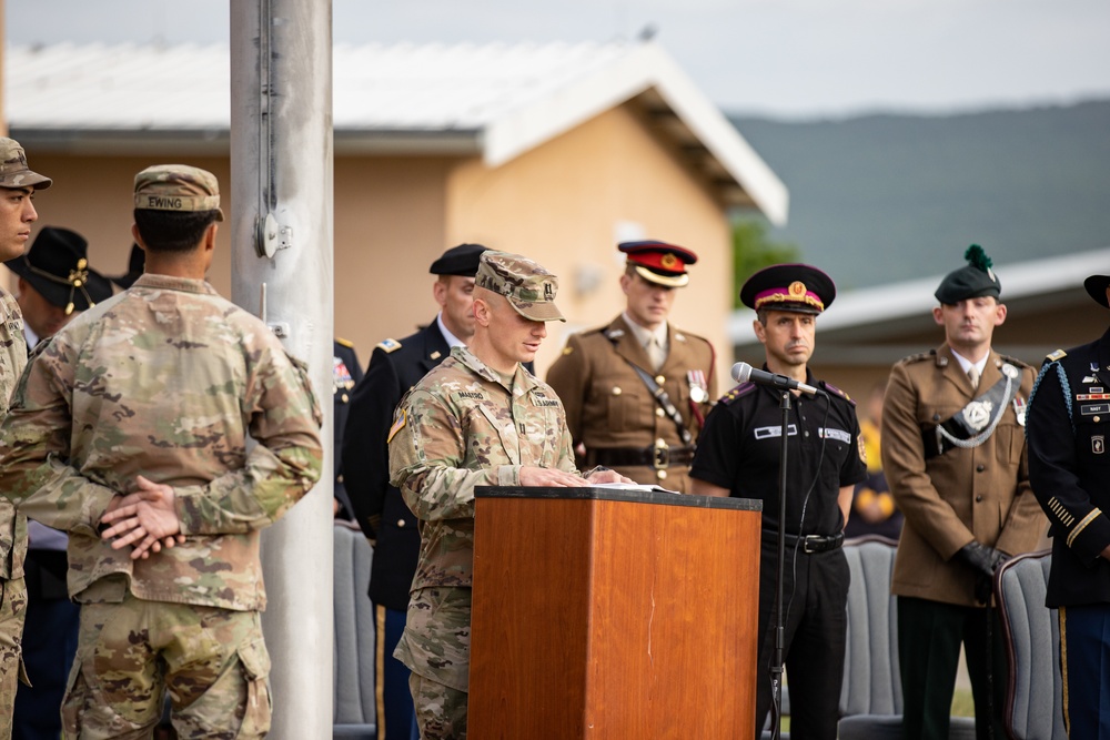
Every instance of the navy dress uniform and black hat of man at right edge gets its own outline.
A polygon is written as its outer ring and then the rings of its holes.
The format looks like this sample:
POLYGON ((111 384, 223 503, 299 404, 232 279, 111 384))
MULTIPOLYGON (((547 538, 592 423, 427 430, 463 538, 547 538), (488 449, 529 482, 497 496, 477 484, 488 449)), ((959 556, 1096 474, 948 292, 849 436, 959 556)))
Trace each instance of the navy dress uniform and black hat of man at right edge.
MULTIPOLYGON (((1084 285, 1108 305, 1110 275, 1084 285)), ((1110 331, 1047 357, 1026 429, 1029 477, 1052 524, 1047 606, 1060 610, 1068 733, 1110 737, 1110 331)))

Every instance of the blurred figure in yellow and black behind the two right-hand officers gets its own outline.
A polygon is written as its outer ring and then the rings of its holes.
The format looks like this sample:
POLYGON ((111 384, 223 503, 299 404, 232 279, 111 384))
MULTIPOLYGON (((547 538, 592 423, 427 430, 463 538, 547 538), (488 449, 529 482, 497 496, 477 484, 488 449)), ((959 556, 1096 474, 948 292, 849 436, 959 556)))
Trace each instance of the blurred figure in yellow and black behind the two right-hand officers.
POLYGON ((845 537, 882 535, 898 539, 901 534, 902 514, 895 506, 895 497, 890 495, 880 456, 882 398, 886 393, 886 381, 872 386, 862 409, 864 417, 859 419, 859 432, 867 452, 867 479, 856 485, 848 526, 844 530, 845 537))

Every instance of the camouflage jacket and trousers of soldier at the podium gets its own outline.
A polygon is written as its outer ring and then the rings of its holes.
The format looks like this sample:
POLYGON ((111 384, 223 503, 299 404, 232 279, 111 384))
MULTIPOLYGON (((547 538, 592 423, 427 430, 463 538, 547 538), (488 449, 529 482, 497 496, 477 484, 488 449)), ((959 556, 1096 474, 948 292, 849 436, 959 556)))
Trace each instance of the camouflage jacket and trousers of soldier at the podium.
POLYGON ((398 406, 391 483, 420 520, 421 550, 394 656, 413 671, 421 737, 466 736, 474 487, 518 486, 526 465, 577 474, 563 405, 519 364, 503 377, 455 347, 398 406))

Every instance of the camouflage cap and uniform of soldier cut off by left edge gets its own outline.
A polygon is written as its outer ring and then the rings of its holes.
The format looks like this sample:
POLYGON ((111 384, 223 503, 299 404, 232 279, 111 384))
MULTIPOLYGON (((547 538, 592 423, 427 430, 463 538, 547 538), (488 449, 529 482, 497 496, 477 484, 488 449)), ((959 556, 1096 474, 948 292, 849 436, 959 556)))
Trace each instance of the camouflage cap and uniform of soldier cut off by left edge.
MULTIPOLYGON (((32 172, 19 142, 0 138, 0 191, 32 187, 46 190, 50 178, 32 172)), ((31 221, 34 219, 31 217, 31 221)), ((26 222, 26 221, 24 221, 26 222)), ((27 365, 23 317, 16 298, 0 288, 0 414, 8 410, 16 382, 27 365)), ((27 519, 0 496, 0 738, 11 736, 12 704, 20 679, 27 682, 20 656, 27 588, 27 519)))

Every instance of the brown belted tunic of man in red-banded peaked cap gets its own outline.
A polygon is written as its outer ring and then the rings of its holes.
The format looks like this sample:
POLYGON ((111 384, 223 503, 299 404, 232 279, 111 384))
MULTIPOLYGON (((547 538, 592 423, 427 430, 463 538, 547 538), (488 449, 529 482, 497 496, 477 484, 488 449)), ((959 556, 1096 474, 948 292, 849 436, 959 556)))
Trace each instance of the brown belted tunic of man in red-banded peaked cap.
POLYGON ((667 326, 669 349, 658 372, 623 316, 608 326, 573 334, 547 373, 566 408, 579 467, 610 467, 642 484, 687 493, 693 444, 667 415, 633 365, 666 391, 692 440, 717 397, 714 351, 707 339, 667 326), (581 452, 581 449, 579 449, 581 452))

